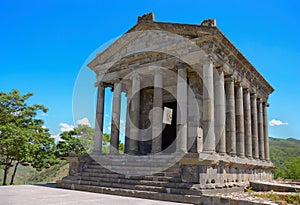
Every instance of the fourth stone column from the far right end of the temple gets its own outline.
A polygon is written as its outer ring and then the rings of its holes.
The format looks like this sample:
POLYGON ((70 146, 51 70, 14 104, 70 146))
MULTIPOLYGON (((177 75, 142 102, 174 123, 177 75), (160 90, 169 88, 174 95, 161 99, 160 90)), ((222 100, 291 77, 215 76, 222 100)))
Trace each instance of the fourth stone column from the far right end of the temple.
POLYGON ((245 154, 252 158, 251 104, 249 89, 244 90, 245 154))

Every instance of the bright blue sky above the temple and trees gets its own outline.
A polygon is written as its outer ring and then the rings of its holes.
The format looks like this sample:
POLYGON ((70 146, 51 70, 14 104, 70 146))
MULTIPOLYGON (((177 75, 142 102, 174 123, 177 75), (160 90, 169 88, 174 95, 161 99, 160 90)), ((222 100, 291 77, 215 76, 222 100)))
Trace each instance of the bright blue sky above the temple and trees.
MULTIPOLYGON (((156 21, 190 24, 215 18, 221 31, 275 88, 269 121, 276 126, 270 126, 270 136, 300 139, 299 10, 298 1, 276 0, 2 0, 0 91, 33 92, 31 102, 49 108, 40 117, 57 135, 74 125, 72 96, 82 65, 99 46, 134 26, 137 16, 153 11, 156 21)), ((82 83, 91 82, 86 86, 93 94, 93 73, 82 72, 88 77, 82 83)), ((86 117, 93 124, 93 118, 86 117)), ((106 118, 107 128, 110 116, 106 118)))

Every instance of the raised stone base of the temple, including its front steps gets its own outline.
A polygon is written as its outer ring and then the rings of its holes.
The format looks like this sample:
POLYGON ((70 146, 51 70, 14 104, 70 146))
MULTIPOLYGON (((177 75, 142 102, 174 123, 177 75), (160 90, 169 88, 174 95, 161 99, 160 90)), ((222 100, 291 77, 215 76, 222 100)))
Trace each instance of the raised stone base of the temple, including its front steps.
POLYGON ((200 204, 204 194, 242 192, 250 180, 271 179, 273 168, 256 160, 203 153, 181 159, 176 155, 67 159, 69 176, 57 187, 192 204, 200 204))

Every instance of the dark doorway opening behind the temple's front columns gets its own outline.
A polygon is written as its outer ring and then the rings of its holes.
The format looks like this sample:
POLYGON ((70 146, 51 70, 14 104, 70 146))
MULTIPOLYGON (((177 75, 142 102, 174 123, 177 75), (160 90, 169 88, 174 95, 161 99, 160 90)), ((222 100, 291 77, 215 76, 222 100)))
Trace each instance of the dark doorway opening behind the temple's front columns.
POLYGON ((172 153, 176 151, 176 118, 177 118, 177 102, 164 103, 163 107, 168 107, 173 110, 172 124, 164 124, 165 128, 162 132, 162 151, 172 153), (174 142, 174 143, 173 143, 174 142), (173 144, 172 144, 173 143, 173 144))

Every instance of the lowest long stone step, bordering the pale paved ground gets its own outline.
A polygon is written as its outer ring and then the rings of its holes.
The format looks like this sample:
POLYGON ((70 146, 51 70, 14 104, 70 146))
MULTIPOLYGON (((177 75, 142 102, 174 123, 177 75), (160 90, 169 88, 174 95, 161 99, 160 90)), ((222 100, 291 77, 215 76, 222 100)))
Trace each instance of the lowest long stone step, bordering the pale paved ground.
POLYGON ((89 186, 89 185, 80 185, 80 184, 71 184, 71 183, 60 183, 57 185, 57 187, 102 193, 102 194, 113 194, 113 195, 120 195, 120 196, 181 202, 181 203, 183 202, 183 203, 190 203, 190 204, 200 204, 200 200, 201 200, 201 196, 195 196, 195 195, 168 194, 168 193, 158 193, 154 191, 129 190, 129 189, 121 189, 121 188, 89 186))

